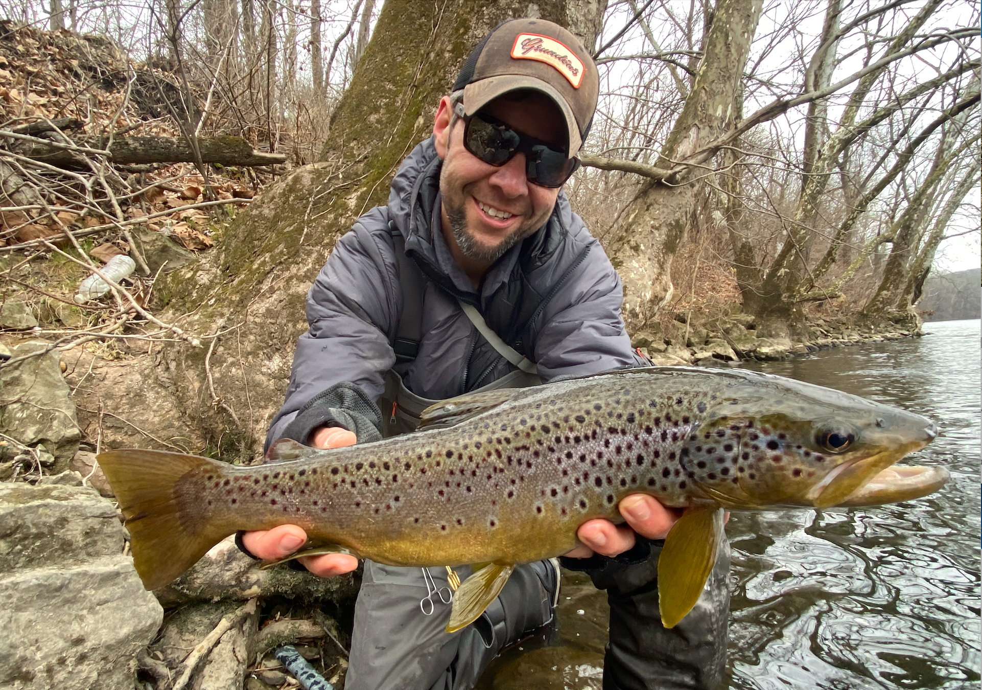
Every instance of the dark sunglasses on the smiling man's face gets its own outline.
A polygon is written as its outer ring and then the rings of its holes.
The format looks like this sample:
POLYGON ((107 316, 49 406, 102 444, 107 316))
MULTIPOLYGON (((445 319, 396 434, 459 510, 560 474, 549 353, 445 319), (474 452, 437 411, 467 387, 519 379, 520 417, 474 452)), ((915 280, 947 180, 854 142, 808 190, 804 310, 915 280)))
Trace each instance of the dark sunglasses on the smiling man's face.
POLYGON ((516 154, 524 153, 526 179, 553 189, 562 187, 579 168, 576 156, 516 132, 487 113, 466 115, 463 103, 458 103, 454 112, 464 120, 464 148, 488 165, 500 168, 516 154))

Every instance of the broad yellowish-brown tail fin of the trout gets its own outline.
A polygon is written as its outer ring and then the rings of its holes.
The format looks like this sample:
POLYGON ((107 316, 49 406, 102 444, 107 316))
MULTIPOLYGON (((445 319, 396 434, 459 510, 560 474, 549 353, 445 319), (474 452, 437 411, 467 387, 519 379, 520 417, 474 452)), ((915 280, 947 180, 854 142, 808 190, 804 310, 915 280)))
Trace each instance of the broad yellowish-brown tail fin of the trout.
POLYGON ((136 572, 147 590, 175 580, 234 531, 207 515, 204 501, 187 494, 182 500, 177 490, 190 473, 225 476, 225 463, 161 450, 112 450, 97 460, 123 511, 136 572))

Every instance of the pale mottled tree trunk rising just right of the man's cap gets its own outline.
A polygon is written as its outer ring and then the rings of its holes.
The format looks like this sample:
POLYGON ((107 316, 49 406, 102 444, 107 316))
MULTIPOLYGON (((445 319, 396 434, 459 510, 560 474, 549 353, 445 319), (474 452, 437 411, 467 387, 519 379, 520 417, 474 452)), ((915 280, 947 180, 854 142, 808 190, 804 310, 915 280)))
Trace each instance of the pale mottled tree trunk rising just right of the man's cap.
MULTIPOLYGON (((743 67, 760 18, 761 0, 720 0, 706 35, 695 83, 685 99, 656 162, 671 168, 717 139, 733 119, 743 67)), ((629 328, 643 325, 671 297, 672 259, 689 225, 696 199, 691 169, 671 185, 647 184, 622 212, 607 243, 608 253, 624 280, 624 316, 629 328)))

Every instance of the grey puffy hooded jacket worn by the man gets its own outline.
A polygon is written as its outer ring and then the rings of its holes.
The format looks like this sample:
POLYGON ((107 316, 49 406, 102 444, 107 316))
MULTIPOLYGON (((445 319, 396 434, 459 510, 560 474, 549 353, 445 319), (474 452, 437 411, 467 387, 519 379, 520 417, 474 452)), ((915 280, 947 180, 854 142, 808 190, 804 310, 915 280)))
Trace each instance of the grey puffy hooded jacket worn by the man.
POLYGON ((404 308, 390 223, 427 279, 422 338, 404 376, 413 393, 449 398, 515 370, 458 299, 477 307, 544 380, 637 366, 621 319, 621 280, 566 197, 560 194, 546 224, 499 259, 475 292, 439 229, 440 164, 432 140, 418 144, 392 182, 389 204, 362 215, 338 241, 307 296, 310 330, 300 336, 267 443, 285 434, 303 442, 324 424, 355 431, 362 441, 378 437, 371 427, 380 418, 368 401, 383 392, 396 361, 404 308), (338 388, 342 382, 348 385, 338 388))

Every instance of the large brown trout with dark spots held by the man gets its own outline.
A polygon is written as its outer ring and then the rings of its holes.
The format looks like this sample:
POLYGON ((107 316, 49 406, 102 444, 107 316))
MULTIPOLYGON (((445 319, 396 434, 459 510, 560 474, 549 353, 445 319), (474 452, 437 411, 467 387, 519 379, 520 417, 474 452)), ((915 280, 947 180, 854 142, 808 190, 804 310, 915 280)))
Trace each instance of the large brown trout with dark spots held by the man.
POLYGON ((98 456, 144 586, 167 585, 238 530, 296 524, 295 556, 475 565, 447 630, 472 622, 521 563, 569 552, 587 520, 623 522, 647 493, 684 508, 659 556, 662 622, 692 608, 726 539, 725 510, 857 507, 918 498, 944 467, 892 466, 935 425, 771 374, 651 367, 464 395, 418 431, 321 450, 281 439, 237 467, 159 450, 98 456))

